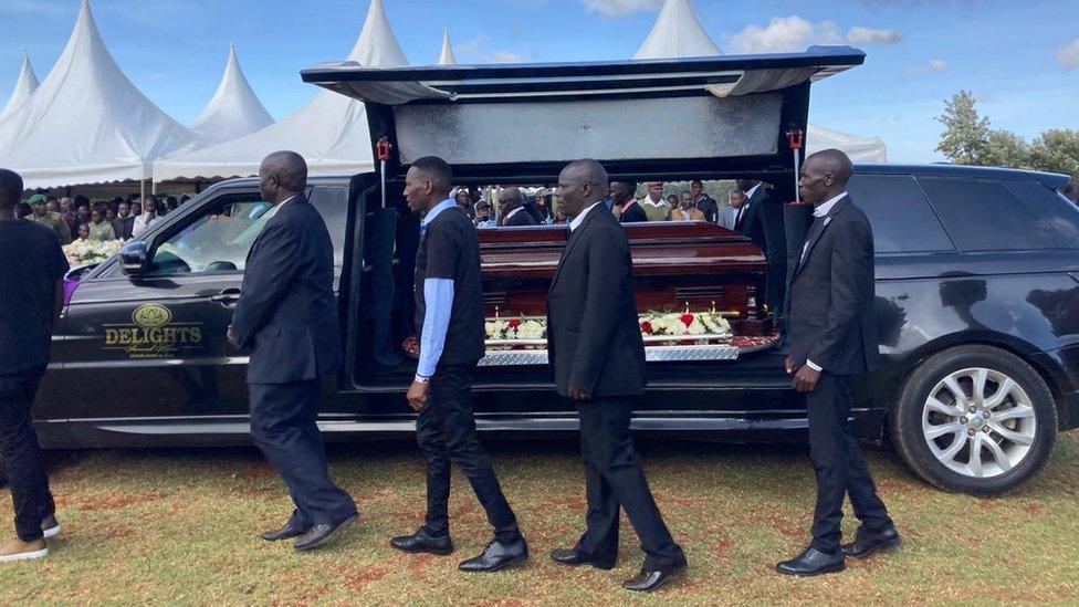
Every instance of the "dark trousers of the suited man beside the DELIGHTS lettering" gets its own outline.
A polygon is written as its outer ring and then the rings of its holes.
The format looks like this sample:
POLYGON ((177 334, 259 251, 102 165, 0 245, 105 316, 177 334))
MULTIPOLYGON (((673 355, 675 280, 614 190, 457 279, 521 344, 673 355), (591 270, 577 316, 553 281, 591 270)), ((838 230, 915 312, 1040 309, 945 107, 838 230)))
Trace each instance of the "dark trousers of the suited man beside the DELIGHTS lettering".
POLYGON ((356 514, 356 503, 334 484, 316 420, 322 380, 249 384, 251 437, 289 486, 293 526, 335 525, 356 514))

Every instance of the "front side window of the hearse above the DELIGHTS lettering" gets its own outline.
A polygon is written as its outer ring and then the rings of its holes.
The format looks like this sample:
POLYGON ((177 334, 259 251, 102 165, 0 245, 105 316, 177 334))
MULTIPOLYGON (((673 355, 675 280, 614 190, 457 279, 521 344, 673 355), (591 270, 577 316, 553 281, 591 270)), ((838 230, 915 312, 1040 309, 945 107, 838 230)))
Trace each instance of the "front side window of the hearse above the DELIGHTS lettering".
POLYGON ((155 243, 150 275, 242 271, 248 250, 276 208, 262 200, 230 198, 187 218, 187 224, 155 243))

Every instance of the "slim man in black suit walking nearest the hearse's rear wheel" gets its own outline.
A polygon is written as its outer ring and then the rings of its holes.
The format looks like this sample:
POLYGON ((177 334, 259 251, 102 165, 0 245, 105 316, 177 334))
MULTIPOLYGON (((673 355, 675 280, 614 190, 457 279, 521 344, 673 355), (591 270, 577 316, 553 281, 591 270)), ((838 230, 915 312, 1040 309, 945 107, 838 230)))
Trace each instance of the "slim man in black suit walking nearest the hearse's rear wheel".
POLYGON ((827 149, 806 159, 798 187, 814 206, 802 258, 790 283, 786 370, 806 395, 809 454, 817 472, 813 543, 776 565, 788 575, 844 568, 844 557, 861 558, 899 545, 900 537, 850 430, 852 377, 879 364, 873 312, 873 232, 847 196, 850 159, 827 149), (842 502, 850 495, 861 521, 855 542, 840 546, 842 502))

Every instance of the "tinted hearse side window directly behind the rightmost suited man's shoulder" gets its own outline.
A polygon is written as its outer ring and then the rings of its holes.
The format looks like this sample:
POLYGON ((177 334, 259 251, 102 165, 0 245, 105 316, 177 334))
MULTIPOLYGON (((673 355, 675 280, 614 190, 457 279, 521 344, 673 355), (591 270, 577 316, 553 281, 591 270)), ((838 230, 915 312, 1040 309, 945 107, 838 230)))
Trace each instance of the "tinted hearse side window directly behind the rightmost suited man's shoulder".
POLYGON ((910 175, 855 175, 847 191, 869 218, 878 253, 953 249, 910 175))

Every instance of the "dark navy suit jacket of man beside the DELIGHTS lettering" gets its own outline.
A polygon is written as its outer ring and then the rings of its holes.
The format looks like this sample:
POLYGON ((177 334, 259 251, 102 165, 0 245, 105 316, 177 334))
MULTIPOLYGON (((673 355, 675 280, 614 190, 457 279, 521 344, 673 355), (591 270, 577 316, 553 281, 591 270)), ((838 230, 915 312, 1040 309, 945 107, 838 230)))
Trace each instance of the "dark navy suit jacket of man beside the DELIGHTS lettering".
POLYGON ((305 197, 285 202, 251 245, 232 332, 251 348, 250 384, 316 379, 339 365, 334 245, 305 197))

